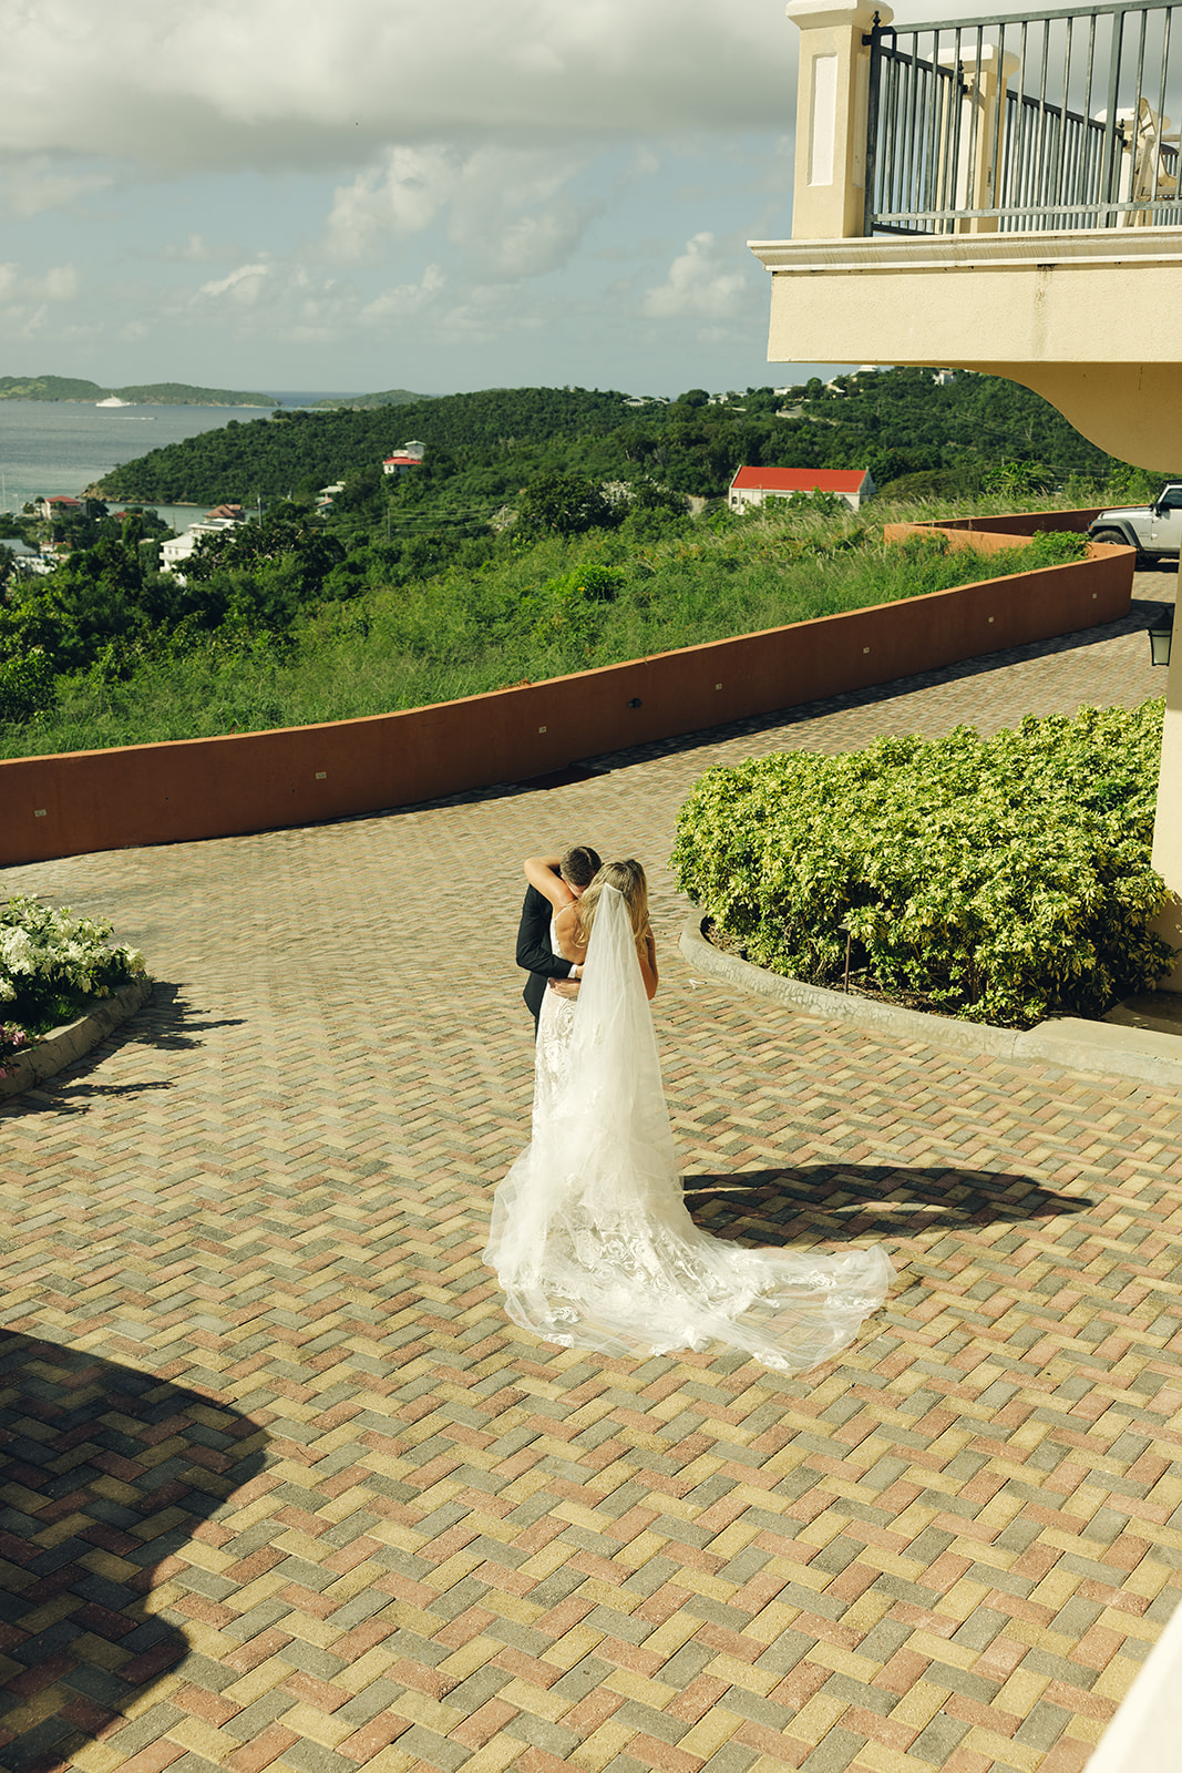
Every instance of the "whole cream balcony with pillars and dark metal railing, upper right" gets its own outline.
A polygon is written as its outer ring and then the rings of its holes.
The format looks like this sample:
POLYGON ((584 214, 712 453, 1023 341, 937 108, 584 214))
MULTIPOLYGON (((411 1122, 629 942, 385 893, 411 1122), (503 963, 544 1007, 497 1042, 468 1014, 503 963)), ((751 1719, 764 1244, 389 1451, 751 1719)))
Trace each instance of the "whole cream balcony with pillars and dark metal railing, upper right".
POLYGON ((1125 461, 1182 463, 1182 21, 1168 4, 953 20, 792 0, 774 362, 1010 376, 1125 461))

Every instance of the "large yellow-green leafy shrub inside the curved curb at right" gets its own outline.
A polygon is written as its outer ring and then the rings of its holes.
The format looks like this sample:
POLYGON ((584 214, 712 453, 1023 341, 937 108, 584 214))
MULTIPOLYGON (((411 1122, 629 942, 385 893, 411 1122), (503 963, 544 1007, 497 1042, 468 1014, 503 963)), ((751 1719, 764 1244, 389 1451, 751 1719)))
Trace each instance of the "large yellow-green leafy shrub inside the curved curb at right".
POLYGON ((969 1021, 1097 1016, 1168 970, 1150 931, 1163 704, 709 769, 679 886, 751 961, 969 1021))

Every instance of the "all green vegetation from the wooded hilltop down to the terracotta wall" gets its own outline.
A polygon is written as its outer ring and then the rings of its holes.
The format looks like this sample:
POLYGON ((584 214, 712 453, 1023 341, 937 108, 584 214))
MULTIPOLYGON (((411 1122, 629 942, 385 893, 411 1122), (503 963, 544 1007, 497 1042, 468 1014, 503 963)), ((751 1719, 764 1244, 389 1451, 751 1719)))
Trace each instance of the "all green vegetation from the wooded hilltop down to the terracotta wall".
MULTIPOLYGON (((985 376, 891 371, 673 402, 585 388, 377 399, 230 420, 115 470, 103 486, 122 498, 253 507, 179 573, 159 571, 149 509, 117 519, 92 498, 4 519, 62 564, 27 578, 0 544, 0 754, 385 713, 916 596, 1033 564, 883 548, 884 518, 932 514, 916 505, 925 488, 948 507, 953 482, 971 486, 975 511, 1139 491, 1046 402, 985 376), (409 440, 424 459, 385 473, 409 440), (718 491, 739 461, 870 466, 911 504, 888 488, 872 528, 822 495, 735 516, 718 491)), ((1044 537, 1035 553, 1079 546, 1044 537)))

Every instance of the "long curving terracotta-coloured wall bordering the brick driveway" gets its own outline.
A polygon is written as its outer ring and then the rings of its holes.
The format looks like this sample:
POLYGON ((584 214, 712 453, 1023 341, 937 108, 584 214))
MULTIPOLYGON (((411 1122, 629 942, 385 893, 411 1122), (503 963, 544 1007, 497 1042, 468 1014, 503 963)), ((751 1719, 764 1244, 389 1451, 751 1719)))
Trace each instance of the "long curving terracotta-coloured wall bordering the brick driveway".
POLYGON ((0 863, 406 807, 1118 621, 1132 553, 1092 553, 399 715, 12 759, 0 762, 0 863))

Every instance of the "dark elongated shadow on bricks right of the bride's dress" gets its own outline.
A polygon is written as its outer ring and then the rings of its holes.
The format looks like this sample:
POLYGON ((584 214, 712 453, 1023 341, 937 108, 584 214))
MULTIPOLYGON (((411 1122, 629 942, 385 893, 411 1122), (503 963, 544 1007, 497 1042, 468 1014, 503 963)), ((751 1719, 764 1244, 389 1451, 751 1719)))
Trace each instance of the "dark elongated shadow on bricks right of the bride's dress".
POLYGON ((874 1163, 812 1163, 782 1170, 682 1175, 693 1218, 704 1230, 778 1245, 895 1236, 943 1225, 1019 1223, 1083 1213, 1093 1206, 1060 1195, 1028 1175, 998 1170, 907 1170, 874 1163))

